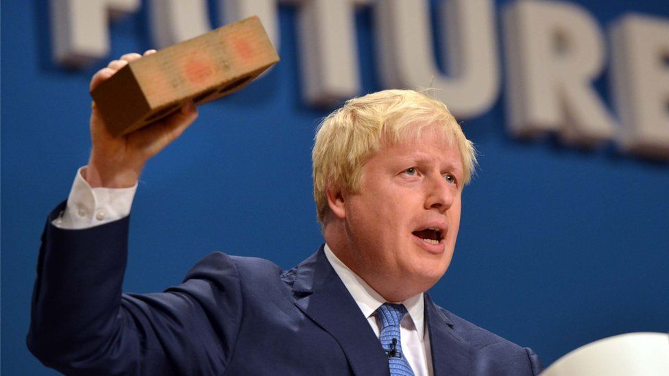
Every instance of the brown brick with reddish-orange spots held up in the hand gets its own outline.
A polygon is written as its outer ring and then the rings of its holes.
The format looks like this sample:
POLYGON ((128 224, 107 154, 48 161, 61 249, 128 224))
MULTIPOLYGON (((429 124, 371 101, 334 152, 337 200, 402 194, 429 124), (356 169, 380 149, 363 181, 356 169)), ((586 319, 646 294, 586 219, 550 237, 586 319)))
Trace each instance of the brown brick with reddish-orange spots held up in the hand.
POLYGON ((127 64, 90 95, 114 137, 249 84, 279 56, 258 17, 219 27, 127 64))

